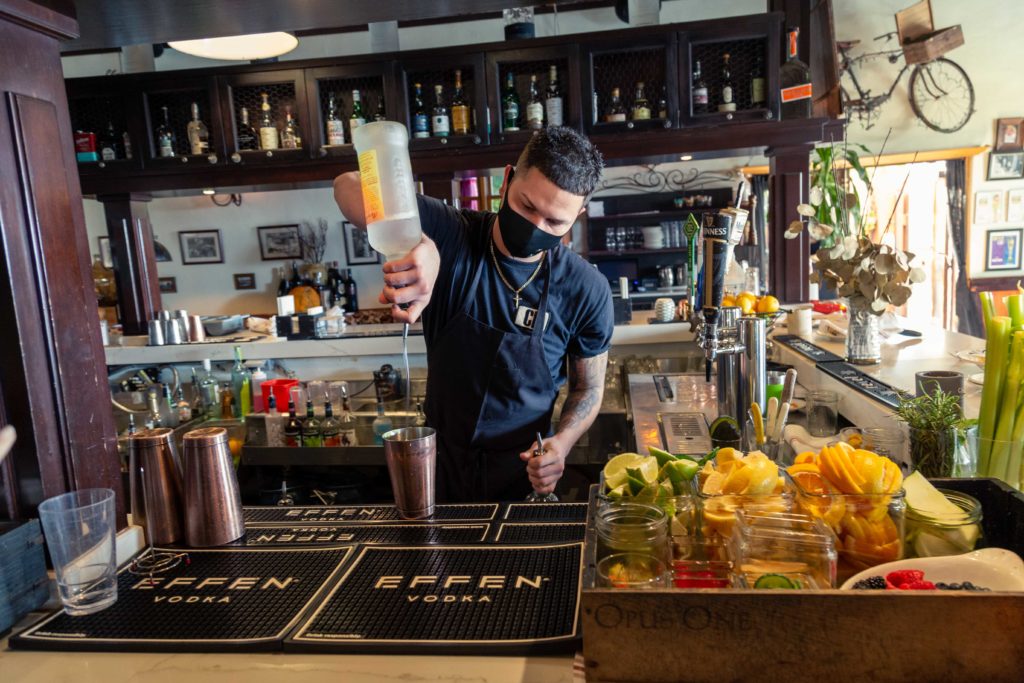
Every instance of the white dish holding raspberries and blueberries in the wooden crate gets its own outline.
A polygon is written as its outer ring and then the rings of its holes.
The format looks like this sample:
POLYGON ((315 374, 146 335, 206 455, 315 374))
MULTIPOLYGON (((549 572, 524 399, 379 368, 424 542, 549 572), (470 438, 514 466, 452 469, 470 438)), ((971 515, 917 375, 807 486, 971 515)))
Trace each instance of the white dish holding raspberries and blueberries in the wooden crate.
POLYGON ((969 581, 993 591, 1024 592, 1024 560, 1017 553, 1002 548, 985 548, 964 555, 947 557, 916 557, 873 566, 851 577, 842 586, 848 591, 868 577, 885 577, 898 569, 921 569, 925 581, 933 584, 963 584, 969 581))

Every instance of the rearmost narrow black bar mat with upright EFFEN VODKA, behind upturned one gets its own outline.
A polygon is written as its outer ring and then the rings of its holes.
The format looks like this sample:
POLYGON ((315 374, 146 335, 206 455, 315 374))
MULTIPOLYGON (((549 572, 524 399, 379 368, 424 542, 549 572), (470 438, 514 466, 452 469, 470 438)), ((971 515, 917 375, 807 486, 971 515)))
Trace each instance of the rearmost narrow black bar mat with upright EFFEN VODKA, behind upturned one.
POLYGON ((309 507, 245 508, 246 524, 361 524, 375 522, 477 522, 490 521, 497 503, 438 505, 430 519, 402 519, 393 505, 316 505, 309 507))

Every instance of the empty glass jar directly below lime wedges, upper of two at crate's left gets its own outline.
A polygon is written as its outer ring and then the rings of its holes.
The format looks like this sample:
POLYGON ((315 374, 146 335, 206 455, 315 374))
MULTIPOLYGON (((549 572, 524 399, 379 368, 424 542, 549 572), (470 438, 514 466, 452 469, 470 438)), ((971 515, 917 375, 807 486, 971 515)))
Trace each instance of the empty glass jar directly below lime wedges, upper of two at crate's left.
POLYGON ((597 512, 597 561, 616 553, 653 555, 671 561, 669 515, 646 503, 608 503, 597 512))

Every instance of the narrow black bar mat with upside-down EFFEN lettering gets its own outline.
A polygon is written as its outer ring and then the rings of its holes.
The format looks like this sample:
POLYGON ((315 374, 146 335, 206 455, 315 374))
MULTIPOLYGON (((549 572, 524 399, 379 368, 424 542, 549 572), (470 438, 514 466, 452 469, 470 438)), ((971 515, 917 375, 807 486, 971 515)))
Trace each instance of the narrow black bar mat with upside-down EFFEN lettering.
MULTIPOLYGON (((490 524, 339 524, 334 526, 248 526, 246 546, 364 545, 441 546, 483 543, 490 524)), ((566 541, 582 541, 565 539, 566 541)))

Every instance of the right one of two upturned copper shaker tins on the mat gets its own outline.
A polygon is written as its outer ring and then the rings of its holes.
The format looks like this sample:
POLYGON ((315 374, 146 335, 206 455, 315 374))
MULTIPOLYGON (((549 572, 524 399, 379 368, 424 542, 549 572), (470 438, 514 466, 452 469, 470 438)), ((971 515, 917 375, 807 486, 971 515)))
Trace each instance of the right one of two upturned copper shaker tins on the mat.
POLYGON ((242 538, 246 526, 227 430, 195 429, 185 434, 183 452, 185 544, 208 548, 242 538))

